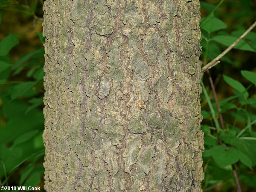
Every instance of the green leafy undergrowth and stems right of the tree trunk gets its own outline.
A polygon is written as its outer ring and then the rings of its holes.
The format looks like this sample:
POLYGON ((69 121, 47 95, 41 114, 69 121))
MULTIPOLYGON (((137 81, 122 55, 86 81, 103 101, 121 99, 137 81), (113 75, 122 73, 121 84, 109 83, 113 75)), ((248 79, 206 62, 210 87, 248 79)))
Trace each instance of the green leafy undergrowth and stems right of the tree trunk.
MULTIPOLYGON (((200 24, 204 65, 221 53, 222 45, 227 48, 245 32, 245 29, 235 30, 231 34, 225 32, 227 25, 215 14, 222 2, 223 0, 216 7, 201 2, 201 8, 209 11, 209 15, 202 18, 200 24)), ((256 52, 256 33, 250 32, 234 49, 256 52)), ((228 56, 221 58, 221 61, 221 64, 230 64, 230 68, 234 64, 228 56)), ((204 75, 209 76, 212 81, 209 70, 207 73, 204 75)), ((205 146, 204 191, 216 188, 221 191, 235 188, 244 191, 256 187, 256 175, 253 172, 256 165, 256 95, 248 92, 255 91, 256 73, 241 70, 241 75, 250 82, 249 86, 245 87, 223 74, 223 86, 233 88, 233 95, 227 98, 218 99, 213 82, 204 82, 211 84, 209 88, 201 83, 201 113, 204 117, 201 129, 204 131, 205 146), (206 102, 208 106, 203 105, 206 102)))

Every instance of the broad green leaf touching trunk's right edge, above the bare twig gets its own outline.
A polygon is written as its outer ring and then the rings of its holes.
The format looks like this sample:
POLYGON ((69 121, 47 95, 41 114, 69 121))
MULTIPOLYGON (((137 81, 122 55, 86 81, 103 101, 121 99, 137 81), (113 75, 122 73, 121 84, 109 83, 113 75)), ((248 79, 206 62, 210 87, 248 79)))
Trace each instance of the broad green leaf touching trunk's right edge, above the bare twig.
POLYGON ((219 20, 217 17, 215 17, 214 14, 210 14, 207 17, 202 18, 200 27, 208 33, 212 33, 220 29, 226 29, 227 25, 222 20, 219 20))

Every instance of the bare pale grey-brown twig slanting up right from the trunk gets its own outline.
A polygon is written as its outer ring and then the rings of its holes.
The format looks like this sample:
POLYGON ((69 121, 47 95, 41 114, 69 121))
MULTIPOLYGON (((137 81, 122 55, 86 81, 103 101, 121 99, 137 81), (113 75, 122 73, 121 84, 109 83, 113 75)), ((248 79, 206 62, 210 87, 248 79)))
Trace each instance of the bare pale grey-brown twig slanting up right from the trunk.
POLYGON ((256 21, 249 27, 249 29, 244 32, 243 35, 241 35, 233 44, 230 45, 226 50, 224 50, 220 55, 218 55, 215 59, 213 59, 211 62, 209 62, 206 66, 202 68, 202 72, 205 72, 207 69, 212 68, 216 64, 218 64, 220 61, 220 58, 222 58, 227 52, 229 52, 233 47, 236 46, 236 44, 239 43, 239 41, 242 40, 254 27, 256 26, 256 21))

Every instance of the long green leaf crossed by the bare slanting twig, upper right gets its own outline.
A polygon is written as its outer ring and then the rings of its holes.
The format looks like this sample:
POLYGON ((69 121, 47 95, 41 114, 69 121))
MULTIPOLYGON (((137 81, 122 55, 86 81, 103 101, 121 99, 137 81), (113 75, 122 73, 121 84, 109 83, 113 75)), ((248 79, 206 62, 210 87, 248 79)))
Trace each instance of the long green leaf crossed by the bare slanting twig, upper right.
MULTIPOLYGON (((216 35, 216 36, 212 37, 211 40, 216 41, 216 42, 218 42, 220 44, 223 44, 223 45, 226 45, 226 46, 230 46, 231 44, 233 44, 237 40, 237 38, 232 37, 230 35, 216 35)), ((239 41, 239 43, 234 47, 234 49, 256 52, 256 50, 253 49, 244 40, 239 41)))

